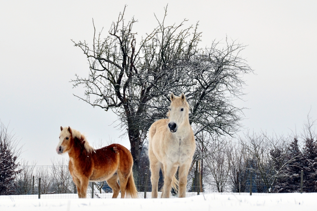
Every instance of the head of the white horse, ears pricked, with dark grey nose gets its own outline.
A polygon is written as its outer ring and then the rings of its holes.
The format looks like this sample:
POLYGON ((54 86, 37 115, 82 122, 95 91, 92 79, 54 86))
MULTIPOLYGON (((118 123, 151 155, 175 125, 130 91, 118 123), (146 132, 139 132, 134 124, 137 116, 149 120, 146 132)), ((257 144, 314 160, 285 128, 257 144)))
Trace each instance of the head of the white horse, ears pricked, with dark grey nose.
POLYGON ((184 123, 188 123, 189 105, 186 101, 184 93, 177 97, 171 93, 171 105, 169 108, 168 128, 171 132, 176 132, 178 127, 184 123))

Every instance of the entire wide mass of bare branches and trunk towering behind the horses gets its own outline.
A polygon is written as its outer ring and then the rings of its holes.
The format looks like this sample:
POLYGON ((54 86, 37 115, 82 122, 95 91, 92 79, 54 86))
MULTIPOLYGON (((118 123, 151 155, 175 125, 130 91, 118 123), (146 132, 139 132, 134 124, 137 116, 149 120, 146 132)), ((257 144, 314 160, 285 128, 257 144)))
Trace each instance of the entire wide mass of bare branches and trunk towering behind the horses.
POLYGON ((74 87, 86 90, 85 97, 79 98, 118 114, 130 140, 137 174, 146 133, 154 121, 165 117, 171 92, 186 94, 196 135, 202 131, 233 135, 241 109, 231 101, 243 94, 242 75, 252 72, 241 58, 243 45, 226 39, 224 47, 214 42, 210 48, 200 49, 198 24, 184 27, 184 20, 166 26, 166 14, 165 8, 163 21, 157 19, 158 27, 138 44, 132 30, 136 20, 126 23, 124 11, 106 38, 94 32, 91 47, 74 42, 90 66, 87 78, 76 75, 72 80, 74 87))

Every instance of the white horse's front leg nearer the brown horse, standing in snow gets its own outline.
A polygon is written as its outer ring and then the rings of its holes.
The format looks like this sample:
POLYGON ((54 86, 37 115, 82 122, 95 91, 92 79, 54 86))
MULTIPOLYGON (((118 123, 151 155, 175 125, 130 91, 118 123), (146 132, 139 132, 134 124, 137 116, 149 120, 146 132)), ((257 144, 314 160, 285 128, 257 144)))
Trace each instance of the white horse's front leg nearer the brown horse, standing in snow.
POLYGON ((178 166, 174 166, 172 163, 164 163, 164 186, 162 198, 169 198, 171 195, 172 181, 176 174, 178 166))

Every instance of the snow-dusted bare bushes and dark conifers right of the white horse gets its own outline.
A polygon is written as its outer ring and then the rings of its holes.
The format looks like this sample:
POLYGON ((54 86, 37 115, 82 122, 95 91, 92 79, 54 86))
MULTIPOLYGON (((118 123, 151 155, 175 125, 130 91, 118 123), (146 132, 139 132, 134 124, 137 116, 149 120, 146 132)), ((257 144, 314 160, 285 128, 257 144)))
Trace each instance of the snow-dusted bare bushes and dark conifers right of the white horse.
POLYGON ((313 124, 308 119, 299 135, 248 133, 239 139, 210 139, 204 151, 198 146, 196 159, 201 164, 198 170, 204 191, 249 192, 252 176, 253 192, 300 192, 303 170, 303 192, 316 192, 317 141, 313 124))

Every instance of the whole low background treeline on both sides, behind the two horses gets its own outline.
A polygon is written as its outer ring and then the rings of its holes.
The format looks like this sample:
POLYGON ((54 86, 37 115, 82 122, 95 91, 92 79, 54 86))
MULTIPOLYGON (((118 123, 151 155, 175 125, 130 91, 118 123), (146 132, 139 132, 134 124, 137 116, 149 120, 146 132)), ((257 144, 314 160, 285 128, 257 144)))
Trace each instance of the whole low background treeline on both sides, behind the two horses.
MULTIPOLYGON (((187 191, 196 192, 300 192, 303 170, 303 192, 317 192, 317 140, 309 121, 306 129, 297 135, 268 136, 266 133, 247 133, 236 139, 209 136, 196 139, 197 147, 188 175, 187 191), (252 173, 251 173, 252 171, 252 173)), ((1 124, 0 130, 0 195, 37 194, 41 177, 41 193, 75 193, 68 170, 68 161, 52 161, 51 166, 29 165, 18 162, 16 139, 1 124), (34 176, 34 181, 33 181, 34 176)), ((136 183, 139 191, 151 191, 151 172, 143 144, 136 183), (145 173, 147 184, 145 184, 145 173)), ((162 174, 159 186, 163 184, 162 174)), ((99 193, 111 192, 106 182, 94 185, 99 193)))

